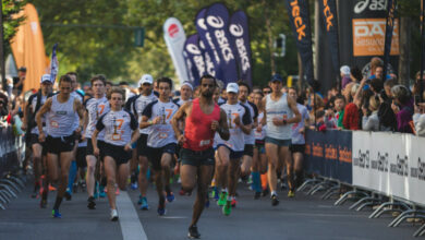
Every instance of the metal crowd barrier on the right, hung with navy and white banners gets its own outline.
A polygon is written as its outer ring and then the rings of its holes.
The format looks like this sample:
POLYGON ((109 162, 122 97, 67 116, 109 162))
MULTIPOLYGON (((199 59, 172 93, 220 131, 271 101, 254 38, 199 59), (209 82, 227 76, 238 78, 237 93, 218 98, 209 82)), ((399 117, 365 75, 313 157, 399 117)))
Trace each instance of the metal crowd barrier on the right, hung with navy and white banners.
MULTIPOLYGON (((424 146, 425 137, 412 134, 307 130, 304 165, 312 178, 298 191, 324 192, 324 200, 339 195, 336 206, 355 201, 350 209, 357 212, 376 207, 368 218, 397 212, 388 227, 425 220, 424 146)), ((425 224, 413 236, 424 235, 425 224)))

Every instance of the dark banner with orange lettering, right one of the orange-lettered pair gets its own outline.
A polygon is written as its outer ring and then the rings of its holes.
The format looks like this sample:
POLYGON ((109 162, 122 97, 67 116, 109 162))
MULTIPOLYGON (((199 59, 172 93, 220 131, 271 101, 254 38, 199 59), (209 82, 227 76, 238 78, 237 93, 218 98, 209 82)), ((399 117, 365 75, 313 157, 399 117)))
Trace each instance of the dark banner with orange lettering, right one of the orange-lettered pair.
POLYGON ((332 59, 333 74, 338 80, 338 89, 341 88, 340 83, 340 61, 339 61, 339 36, 338 36, 338 13, 337 13, 337 0, 320 0, 319 12, 321 15, 321 22, 328 38, 330 48, 330 55, 332 59))

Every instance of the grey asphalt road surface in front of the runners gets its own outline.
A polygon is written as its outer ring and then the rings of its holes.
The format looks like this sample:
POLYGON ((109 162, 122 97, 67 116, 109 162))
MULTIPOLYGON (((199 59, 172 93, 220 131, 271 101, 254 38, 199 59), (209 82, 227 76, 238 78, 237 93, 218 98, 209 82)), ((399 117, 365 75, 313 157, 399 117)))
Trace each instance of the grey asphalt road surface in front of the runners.
MULTIPOLYGON (((192 216, 192 196, 180 196, 173 184, 175 201, 168 203, 166 216, 157 215, 158 197, 154 187, 148 190, 149 211, 138 209, 137 191, 123 191, 118 196, 120 220, 109 220, 107 199, 97 201, 96 209, 86 207, 85 192, 63 200, 62 218, 51 217, 56 192, 49 194, 48 208, 39 208, 39 199, 31 199, 28 184, 7 209, 0 211, 0 239, 187 239, 192 216)), ((271 206, 269 196, 254 200, 246 184, 239 184, 239 204, 230 216, 221 214, 214 200, 198 223, 202 239, 413 239, 418 224, 404 223, 388 228, 390 215, 368 219, 372 209, 350 211, 350 202, 333 206, 335 200, 320 200, 319 194, 298 193, 288 199, 278 192, 280 204, 271 206)))

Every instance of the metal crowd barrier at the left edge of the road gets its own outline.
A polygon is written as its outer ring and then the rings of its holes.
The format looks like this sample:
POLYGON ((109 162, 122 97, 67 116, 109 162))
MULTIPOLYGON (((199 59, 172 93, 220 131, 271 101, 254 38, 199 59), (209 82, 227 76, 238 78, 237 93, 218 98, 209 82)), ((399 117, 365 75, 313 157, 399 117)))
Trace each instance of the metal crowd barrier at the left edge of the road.
POLYGON ((0 128, 0 208, 5 209, 12 199, 25 188, 20 170, 25 158, 25 143, 12 128, 0 128))

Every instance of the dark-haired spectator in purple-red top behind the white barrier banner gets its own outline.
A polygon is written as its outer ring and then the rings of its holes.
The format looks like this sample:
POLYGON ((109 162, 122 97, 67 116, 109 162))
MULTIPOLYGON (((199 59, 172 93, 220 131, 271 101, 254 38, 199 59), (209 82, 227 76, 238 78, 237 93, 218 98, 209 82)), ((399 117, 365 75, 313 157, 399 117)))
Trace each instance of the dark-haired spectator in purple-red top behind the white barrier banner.
POLYGON ((411 122, 413 122, 413 98, 410 91, 403 85, 396 85, 391 88, 393 103, 391 108, 396 113, 397 131, 413 133, 411 122))

